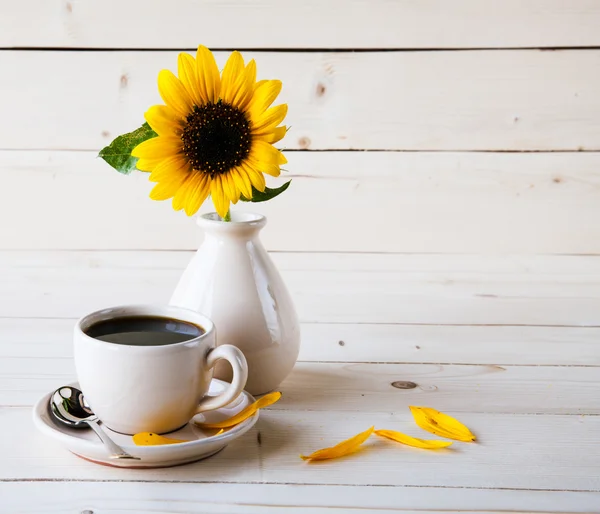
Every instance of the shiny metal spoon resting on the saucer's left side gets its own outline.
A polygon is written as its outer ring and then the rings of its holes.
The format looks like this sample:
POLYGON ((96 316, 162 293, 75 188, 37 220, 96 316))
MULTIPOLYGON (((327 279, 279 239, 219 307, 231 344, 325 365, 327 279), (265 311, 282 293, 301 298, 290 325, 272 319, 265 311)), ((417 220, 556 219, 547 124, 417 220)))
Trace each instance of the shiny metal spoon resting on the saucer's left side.
POLYGON ((140 460, 116 444, 98 425, 96 416, 86 403, 83 393, 76 387, 59 387, 50 397, 50 412, 54 419, 73 428, 90 427, 109 451, 111 459, 140 460))

